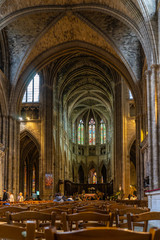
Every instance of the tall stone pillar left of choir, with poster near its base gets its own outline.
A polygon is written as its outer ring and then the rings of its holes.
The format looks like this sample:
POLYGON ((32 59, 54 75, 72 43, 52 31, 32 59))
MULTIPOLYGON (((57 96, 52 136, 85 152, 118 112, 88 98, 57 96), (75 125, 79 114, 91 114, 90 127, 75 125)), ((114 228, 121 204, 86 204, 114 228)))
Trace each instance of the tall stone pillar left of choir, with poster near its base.
POLYGON ((50 77, 50 68, 43 69, 41 86, 41 163, 40 163, 40 196, 44 199, 53 194, 53 186, 45 186, 45 176, 53 176, 53 86, 50 77), (46 175, 47 174, 47 175, 46 175))

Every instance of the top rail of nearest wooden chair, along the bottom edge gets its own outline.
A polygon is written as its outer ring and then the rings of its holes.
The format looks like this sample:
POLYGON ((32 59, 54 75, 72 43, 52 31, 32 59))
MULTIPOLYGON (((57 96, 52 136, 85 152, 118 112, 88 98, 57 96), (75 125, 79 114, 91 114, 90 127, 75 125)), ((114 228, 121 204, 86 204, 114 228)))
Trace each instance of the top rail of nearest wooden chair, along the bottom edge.
POLYGON ((82 229, 74 232, 56 232, 45 230, 46 240, 159 240, 160 229, 151 229, 149 233, 133 232, 116 228, 82 229))

